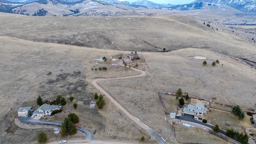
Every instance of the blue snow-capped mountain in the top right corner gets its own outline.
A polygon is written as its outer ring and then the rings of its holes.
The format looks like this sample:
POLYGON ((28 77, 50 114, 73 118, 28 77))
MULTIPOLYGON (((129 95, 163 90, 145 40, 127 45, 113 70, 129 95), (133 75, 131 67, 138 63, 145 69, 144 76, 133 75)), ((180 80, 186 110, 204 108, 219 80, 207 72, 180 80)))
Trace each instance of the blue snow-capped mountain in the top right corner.
POLYGON ((243 12, 256 12, 256 0, 196 0, 194 2, 224 4, 243 12))

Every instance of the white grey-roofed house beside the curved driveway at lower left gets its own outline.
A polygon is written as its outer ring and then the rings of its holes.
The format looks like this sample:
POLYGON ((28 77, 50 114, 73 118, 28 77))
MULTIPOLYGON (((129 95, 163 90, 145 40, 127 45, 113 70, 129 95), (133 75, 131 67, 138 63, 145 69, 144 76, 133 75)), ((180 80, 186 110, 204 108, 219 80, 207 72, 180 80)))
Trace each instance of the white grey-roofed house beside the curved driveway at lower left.
POLYGON ((58 109, 58 106, 56 105, 43 104, 37 110, 35 110, 33 114, 36 116, 44 116, 44 115, 50 116, 52 114, 52 111, 57 109, 58 109))

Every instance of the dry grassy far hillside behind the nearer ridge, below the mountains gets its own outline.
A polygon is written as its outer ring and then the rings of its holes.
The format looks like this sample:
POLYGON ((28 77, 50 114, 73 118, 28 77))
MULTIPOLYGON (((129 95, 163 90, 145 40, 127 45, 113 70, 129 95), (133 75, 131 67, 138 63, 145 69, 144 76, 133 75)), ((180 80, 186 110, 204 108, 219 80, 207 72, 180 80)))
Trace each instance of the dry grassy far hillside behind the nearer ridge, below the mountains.
POLYGON ((256 61, 255 45, 249 42, 251 38, 209 28, 188 16, 124 16, 106 19, 31 17, 1 13, 0 18, 0 36, 128 51, 159 52, 163 48, 168 51, 201 48, 256 61))

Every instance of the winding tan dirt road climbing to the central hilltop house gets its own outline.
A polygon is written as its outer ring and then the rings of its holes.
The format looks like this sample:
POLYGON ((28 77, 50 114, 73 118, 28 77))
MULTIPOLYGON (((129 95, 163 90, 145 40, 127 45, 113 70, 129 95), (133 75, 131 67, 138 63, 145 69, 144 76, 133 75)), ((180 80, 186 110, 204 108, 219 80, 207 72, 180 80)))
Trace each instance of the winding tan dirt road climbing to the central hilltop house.
MULTIPOLYGON (((124 66, 124 65, 122 65, 124 66)), ((136 119, 134 116, 132 116, 132 114, 130 114, 124 107, 122 107, 116 100, 114 100, 114 98, 112 96, 110 96, 110 94, 108 94, 108 92, 106 92, 102 87, 100 87, 97 82, 101 81, 101 80, 117 80, 117 79, 125 79, 125 78, 136 78, 136 77, 140 77, 140 76, 144 76, 146 75, 145 71, 142 70, 138 70, 136 68, 131 68, 132 70, 141 72, 141 74, 136 75, 136 76, 126 76, 126 77, 122 77, 122 78, 100 78, 100 79, 96 79, 92 81, 92 84, 98 89, 100 90, 100 92, 102 92, 103 94, 105 94, 113 103, 115 106, 117 106, 120 110, 122 110, 131 120, 133 120, 138 126, 140 126, 141 128, 144 128, 145 130, 147 130, 148 132, 150 132, 150 134, 152 134, 159 142, 159 144, 164 144, 165 141, 161 136, 158 136, 153 130, 151 130, 148 126, 146 126, 145 124, 143 124, 142 122, 140 122, 138 119, 136 119)))

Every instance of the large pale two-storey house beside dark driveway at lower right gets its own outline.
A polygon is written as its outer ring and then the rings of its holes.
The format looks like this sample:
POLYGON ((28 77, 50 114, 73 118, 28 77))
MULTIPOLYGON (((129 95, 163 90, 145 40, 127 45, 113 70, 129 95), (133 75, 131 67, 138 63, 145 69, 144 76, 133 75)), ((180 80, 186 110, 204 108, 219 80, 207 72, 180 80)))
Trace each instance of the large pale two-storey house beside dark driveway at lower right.
POLYGON ((188 104, 187 108, 183 108, 183 113, 202 117, 203 114, 207 113, 207 108, 201 103, 196 103, 196 105, 188 104))

